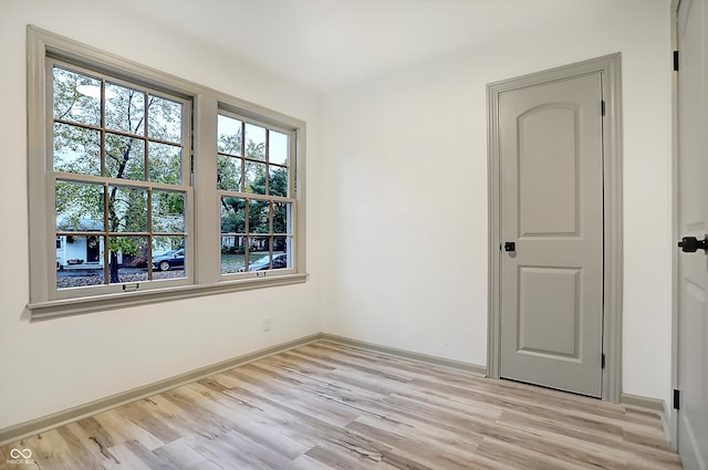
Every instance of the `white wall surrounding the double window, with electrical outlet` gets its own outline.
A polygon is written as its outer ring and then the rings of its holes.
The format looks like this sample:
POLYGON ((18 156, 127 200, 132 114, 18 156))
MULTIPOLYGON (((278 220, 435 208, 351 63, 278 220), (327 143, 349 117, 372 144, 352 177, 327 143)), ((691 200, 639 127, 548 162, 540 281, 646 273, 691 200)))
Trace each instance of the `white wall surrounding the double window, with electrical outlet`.
POLYGON ((321 331, 315 94, 114 2, 2 1, 0 56, 0 429, 321 331), (308 122, 308 283, 30 323, 28 23, 308 122))

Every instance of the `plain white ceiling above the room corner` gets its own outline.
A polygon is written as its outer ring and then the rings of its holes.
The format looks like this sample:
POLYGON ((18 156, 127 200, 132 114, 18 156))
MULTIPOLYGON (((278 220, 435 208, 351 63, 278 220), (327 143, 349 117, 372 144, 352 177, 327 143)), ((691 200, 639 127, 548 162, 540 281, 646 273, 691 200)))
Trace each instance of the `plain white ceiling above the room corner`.
POLYGON ((544 28, 611 0, 125 0, 226 54, 327 90, 544 28))

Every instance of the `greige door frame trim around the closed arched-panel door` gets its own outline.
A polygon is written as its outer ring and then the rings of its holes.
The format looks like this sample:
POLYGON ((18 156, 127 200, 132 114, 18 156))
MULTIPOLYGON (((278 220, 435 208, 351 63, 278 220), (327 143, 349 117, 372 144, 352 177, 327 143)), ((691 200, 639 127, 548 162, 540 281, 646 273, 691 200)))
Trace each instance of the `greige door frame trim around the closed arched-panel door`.
POLYGON ((602 399, 620 403, 622 395, 622 107, 621 54, 615 53, 487 85, 489 179, 489 326, 487 376, 499 378, 501 359, 501 185, 499 97, 507 91, 602 73, 604 194, 604 321, 602 399))

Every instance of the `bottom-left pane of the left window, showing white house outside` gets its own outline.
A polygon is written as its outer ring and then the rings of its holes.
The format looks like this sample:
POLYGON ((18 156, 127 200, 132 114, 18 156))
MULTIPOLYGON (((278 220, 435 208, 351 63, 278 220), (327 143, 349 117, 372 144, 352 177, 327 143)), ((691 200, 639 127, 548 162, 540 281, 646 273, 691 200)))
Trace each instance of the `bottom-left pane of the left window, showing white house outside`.
POLYGON ((56 289, 104 283, 104 237, 59 236, 56 247, 56 289))

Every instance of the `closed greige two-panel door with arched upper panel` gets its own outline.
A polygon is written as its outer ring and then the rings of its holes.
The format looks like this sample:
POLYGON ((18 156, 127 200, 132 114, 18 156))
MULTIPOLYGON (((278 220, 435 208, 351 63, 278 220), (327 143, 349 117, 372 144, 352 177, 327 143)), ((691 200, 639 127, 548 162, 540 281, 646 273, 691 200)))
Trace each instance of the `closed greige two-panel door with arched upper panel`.
POLYGON ((499 97, 500 375, 602 395, 602 73, 499 97))

